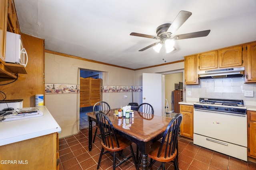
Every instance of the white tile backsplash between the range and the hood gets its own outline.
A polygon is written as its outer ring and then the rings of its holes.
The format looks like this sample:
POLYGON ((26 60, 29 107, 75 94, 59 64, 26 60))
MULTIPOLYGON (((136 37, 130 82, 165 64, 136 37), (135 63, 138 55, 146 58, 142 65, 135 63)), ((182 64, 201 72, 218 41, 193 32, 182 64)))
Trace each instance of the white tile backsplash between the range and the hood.
POLYGON ((244 78, 201 79, 199 85, 186 85, 187 98, 220 98, 256 101, 256 84, 244 84, 244 78), (244 90, 253 90, 253 97, 244 97, 244 90))

